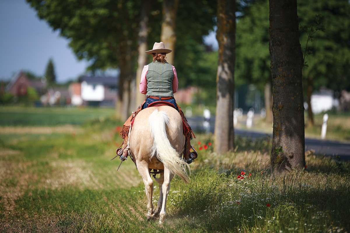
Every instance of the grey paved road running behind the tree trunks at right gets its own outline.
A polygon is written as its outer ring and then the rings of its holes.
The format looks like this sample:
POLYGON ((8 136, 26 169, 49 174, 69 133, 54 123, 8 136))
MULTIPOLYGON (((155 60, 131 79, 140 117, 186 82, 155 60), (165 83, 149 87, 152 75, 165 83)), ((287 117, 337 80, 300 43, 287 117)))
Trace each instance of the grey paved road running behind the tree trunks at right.
MULTIPOLYGON (((191 117, 187 118, 191 128, 195 131, 204 131, 203 128, 203 117, 191 117)), ((214 121, 211 119, 210 122, 210 132, 214 132, 214 121)), ((235 129, 235 133, 242 137, 272 137, 272 133, 262 133, 257 131, 248 131, 242 129, 235 129)), ((305 138, 305 151, 315 150, 315 154, 325 154, 327 156, 336 156, 339 155, 342 160, 350 160, 350 144, 342 143, 339 141, 331 140, 321 140, 313 138, 305 138)))

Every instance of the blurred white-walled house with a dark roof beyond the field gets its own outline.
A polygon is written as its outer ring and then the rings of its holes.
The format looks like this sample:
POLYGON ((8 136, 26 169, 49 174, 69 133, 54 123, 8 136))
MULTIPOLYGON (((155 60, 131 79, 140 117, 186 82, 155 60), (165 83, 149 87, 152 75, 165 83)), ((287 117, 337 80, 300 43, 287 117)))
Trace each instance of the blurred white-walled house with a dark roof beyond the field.
POLYGON ((116 76, 83 76, 81 80, 81 97, 84 102, 99 106, 114 106, 117 100, 116 76))

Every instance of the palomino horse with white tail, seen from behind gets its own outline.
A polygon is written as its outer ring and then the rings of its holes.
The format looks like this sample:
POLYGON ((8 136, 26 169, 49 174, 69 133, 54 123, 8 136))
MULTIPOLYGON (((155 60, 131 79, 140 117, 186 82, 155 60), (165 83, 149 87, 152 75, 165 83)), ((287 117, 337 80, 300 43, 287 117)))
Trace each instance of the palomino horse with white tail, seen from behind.
POLYGON ((184 169, 189 166, 180 159, 184 150, 185 136, 182 118, 178 111, 169 106, 148 107, 135 117, 130 132, 130 149, 134 154, 137 169, 145 183, 147 202, 147 220, 158 217, 163 223, 166 217, 166 202, 170 190, 170 181, 174 174, 188 183, 188 175, 184 169), (164 169, 159 183, 158 206, 154 210, 152 204, 153 180, 150 169, 164 169))

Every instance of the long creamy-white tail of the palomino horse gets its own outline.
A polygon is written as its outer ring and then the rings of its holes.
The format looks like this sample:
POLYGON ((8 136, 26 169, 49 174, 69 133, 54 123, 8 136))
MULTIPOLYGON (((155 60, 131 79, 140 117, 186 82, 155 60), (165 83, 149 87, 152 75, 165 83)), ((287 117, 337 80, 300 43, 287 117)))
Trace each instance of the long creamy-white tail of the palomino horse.
POLYGON ((180 176, 180 178, 188 183, 188 174, 185 167, 189 165, 183 161, 170 141, 166 132, 166 125, 169 124, 169 117, 165 111, 155 109, 149 116, 149 126, 153 138, 153 146, 151 148, 151 158, 156 156, 171 173, 180 176))

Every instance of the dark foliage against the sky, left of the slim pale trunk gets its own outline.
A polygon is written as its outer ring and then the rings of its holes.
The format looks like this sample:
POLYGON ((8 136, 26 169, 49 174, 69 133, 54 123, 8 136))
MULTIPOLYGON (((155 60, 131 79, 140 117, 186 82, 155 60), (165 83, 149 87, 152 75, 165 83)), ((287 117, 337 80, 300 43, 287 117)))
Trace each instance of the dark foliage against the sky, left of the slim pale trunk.
MULTIPOLYGON (((117 68, 125 38, 136 39, 140 1, 27 0, 90 69, 117 68)), ((135 40, 136 41, 136 40, 135 40)), ((136 43, 134 42, 134 46, 136 43)))

